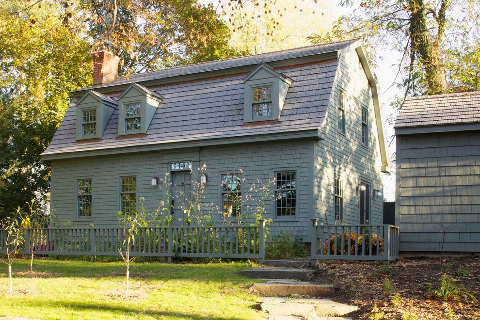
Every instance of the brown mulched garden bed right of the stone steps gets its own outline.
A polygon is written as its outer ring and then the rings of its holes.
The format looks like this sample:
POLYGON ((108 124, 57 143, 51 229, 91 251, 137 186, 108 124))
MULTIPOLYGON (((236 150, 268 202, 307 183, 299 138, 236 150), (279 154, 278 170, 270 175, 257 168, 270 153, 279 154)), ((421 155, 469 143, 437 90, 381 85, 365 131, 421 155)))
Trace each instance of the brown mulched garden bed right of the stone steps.
POLYGON ((352 319, 480 319, 479 304, 467 297, 445 302, 429 295, 444 273, 480 300, 480 258, 472 256, 399 258, 388 268, 382 262, 326 261, 310 280, 336 286, 333 300, 358 306, 352 319), (373 318, 382 312, 383 318, 373 318))

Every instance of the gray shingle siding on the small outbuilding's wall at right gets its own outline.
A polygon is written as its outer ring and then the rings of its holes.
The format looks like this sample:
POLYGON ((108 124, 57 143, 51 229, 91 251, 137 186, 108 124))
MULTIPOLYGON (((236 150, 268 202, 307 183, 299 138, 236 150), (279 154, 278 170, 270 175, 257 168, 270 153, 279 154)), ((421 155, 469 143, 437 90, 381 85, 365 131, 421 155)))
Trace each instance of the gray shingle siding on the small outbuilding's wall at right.
POLYGON ((480 251, 479 170, 480 131, 397 136, 401 251, 480 251))

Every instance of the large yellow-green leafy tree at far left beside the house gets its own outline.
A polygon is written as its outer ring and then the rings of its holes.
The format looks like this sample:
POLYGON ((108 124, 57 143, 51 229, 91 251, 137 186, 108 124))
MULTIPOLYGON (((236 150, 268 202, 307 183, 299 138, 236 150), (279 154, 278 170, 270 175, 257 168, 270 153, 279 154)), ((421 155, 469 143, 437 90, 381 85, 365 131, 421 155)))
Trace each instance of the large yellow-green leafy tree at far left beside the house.
POLYGON ((25 12, 12 4, 0 1, 2 215, 27 210, 27 203, 48 192, 50 168, 40 153, 68 107, 70 91, 91 79, 90 46, 64 27, 54 7, 25 12))

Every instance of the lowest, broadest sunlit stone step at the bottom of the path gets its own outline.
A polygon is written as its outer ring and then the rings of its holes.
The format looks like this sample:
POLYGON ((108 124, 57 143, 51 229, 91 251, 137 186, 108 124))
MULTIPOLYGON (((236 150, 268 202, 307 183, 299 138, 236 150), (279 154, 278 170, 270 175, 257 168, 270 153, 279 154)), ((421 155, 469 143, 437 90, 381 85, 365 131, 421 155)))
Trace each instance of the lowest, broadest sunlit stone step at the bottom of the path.
POLYGON ((264 298, 260 307, 269 314, 269 317, 295 316, 304 319, 319 319, 319 317, 332 319, 329 317, 341 317, 358 309, 356 306, 336 303, 330 299, 279 299, 275 297, 264 298))

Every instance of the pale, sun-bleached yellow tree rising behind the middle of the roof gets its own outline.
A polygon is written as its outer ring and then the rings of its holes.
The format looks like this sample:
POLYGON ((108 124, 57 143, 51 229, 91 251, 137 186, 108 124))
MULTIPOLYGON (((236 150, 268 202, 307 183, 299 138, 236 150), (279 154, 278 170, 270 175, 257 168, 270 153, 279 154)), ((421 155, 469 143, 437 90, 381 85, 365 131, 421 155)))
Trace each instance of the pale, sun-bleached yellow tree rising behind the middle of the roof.
POLYGON ((325 0, 224 0, 219 9, 232 31, 230 44, 251 53, 308 46, 312 31, 325 35, 339 16, 325 0))

